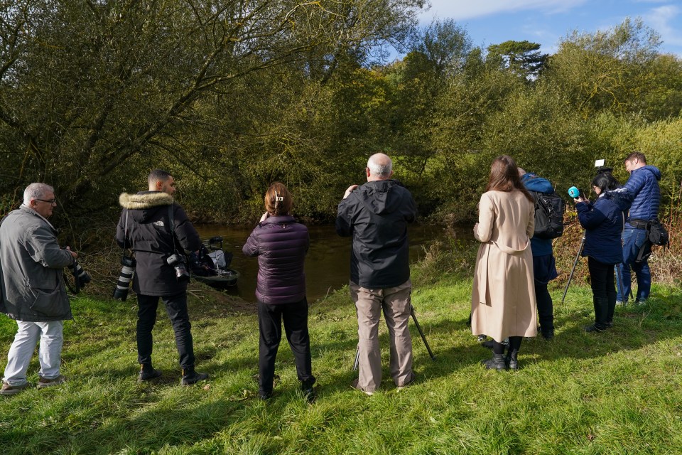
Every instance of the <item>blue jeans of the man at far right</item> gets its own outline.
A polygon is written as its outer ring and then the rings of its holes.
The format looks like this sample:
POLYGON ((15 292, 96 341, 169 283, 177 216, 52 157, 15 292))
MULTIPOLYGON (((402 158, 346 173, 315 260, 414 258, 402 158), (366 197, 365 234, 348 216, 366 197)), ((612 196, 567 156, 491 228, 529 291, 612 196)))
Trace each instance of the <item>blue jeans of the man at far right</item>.
MULTIPOLYGON (((619 273, 616 273, 616 282, 618 283, 616 299, 619 301, 627 301, 628 297, 632 295, 631 267, 637 275, 637 296, 635 300, 644 301, 649 298, 649 292, 651 292, 651 269, 649 269, 649 264, 646 262, 647 259, 642 260, 642 262, 635 262, 644 242, 648 243, 646 240, 646 229, 635 229, 630 225, 625 226, 623 231, 623 264, 622 267, 620 265, 617 266, 617 269, 620 269, 622 281, 620 281, 619 273)), ((651 250, 651 245, 645 248, 651 250)), ((645 253, 647 252, 645 251, 645 253)))

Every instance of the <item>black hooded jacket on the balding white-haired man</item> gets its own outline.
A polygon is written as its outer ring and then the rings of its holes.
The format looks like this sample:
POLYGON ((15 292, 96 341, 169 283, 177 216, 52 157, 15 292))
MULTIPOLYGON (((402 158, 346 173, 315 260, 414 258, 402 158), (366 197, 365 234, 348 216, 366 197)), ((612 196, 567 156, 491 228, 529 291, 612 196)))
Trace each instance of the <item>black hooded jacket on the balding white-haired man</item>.
POLYGON ((394 180, 367 182, 339 203, 336 232, 353 237, 352 282, 382 289, 410 278, 407 223, 416 214, 412 195, 394 180))

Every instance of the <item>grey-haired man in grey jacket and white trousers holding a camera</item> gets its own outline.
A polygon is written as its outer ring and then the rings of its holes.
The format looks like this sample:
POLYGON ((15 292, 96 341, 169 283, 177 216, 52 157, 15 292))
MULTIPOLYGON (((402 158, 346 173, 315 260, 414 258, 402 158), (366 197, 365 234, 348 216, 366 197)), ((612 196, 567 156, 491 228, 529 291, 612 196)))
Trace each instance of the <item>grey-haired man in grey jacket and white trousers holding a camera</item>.
POLYGON ((77 254, 59 247, 57 230, 48 221, 55 205, 51 186, 31 183, 21 207, 0 225, 0 311, 17 324, 0 395, 28 387, 26 371, 38 339, 38 388, 65 380, 60 374, 63 328, 64 320, 72 316, 62 272, 77 254))

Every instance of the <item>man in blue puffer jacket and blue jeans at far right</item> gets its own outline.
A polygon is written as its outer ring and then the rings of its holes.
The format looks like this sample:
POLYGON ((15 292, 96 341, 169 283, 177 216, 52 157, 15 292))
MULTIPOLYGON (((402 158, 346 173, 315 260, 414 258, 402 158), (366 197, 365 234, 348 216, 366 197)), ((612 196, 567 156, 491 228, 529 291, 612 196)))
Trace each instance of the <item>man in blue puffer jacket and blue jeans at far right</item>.
POLYGON ((630 177, 625 182, 632 198, 632 206, 623 231, 623 264, 622 284, 617 287, 617 303, 626 302, 632 289, 630 268, 637 275, 637 295, 635 304, 642 304, 649 298, 651 291, 651 269, 647 259, 651 254, 651 243, 648 240, 646 223, 656 220, 661 205, 661 190, 659 180, 661 171, 655 166, 646 165, 646 157, 639 151, 634 151, 625 159, 625 170, 630 177), (637 261, 639 250, 644 248, 642 259, 637 261))

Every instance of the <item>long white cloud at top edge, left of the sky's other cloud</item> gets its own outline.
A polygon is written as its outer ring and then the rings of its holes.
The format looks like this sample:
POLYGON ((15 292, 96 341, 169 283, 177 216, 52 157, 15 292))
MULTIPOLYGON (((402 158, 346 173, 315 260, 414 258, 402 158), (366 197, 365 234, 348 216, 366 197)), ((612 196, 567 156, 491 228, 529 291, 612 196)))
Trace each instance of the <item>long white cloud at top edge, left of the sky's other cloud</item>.
POLYGON ((431 0, 427 14, 455 21, 511 11, 538 10, 548 13, 568 11, 587 0, 431 0))

